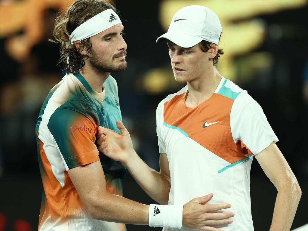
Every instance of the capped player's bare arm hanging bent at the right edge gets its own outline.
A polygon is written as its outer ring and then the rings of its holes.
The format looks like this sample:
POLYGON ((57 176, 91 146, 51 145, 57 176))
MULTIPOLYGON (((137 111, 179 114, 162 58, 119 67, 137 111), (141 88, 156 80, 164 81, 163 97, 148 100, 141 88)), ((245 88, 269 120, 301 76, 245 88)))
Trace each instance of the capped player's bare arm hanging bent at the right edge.
POLYGON ((302 195, 297 179, 275 143, 255 157, 278 190, 270 231, 289 231, 302 195))

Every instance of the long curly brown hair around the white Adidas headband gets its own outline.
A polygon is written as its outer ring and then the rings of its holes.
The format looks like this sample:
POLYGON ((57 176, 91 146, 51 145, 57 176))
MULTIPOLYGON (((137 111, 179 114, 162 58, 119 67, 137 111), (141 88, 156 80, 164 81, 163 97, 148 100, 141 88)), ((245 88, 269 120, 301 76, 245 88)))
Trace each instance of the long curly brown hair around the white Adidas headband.
POLYGON ((67 72, 80 72, 80 69, 85 64, 84 57, 80 55, 80 51, 85 48, 91 54, 92 48, 91 38, 82 40, 80 46, 76 48, 75 42, 71 43, 70 34, 83 22, 107 9, 112 9, 117 13, 115 6, 107 2, 77 0, 67 9, 63 16, 60 15, 55 18, 53 39, 49 39, 49 41, 60 43, 61 59, 59 63, 62 63, 67 72), (70 44, 68 47, 66 46, 67 42, 70 44))

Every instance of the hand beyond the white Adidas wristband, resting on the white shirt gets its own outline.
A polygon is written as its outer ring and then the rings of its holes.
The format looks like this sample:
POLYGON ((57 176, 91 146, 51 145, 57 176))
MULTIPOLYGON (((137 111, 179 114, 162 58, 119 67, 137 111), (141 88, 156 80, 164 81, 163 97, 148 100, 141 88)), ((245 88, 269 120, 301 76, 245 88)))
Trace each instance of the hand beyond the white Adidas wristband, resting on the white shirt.
POLYGON ((221 209, 230 208, 230 204, 205 205, 213 197, 213 193, 203 197, 197 197, 183 206, 183 225, 189 229, 206 231, 222 231, 209 225, 231 224, 228 219, 234 217, 234 213, 219 213, 221 209))

